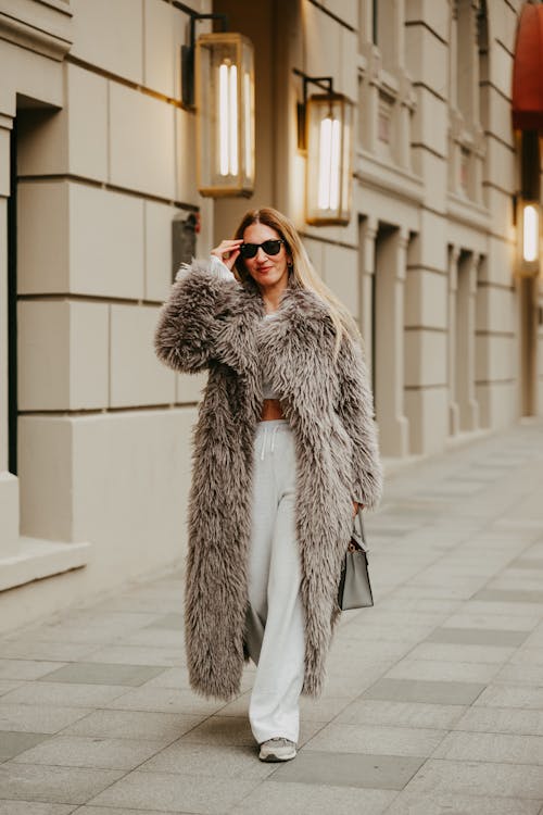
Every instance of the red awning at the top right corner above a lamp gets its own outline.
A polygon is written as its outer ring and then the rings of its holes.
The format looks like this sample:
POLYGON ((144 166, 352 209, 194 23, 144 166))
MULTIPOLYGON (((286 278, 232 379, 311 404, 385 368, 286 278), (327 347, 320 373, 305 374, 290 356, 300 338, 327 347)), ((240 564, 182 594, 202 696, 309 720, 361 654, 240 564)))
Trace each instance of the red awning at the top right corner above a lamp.
POLYGON ((513 66, 513 126, 543 133, 543 5, 520 12, 513 66))

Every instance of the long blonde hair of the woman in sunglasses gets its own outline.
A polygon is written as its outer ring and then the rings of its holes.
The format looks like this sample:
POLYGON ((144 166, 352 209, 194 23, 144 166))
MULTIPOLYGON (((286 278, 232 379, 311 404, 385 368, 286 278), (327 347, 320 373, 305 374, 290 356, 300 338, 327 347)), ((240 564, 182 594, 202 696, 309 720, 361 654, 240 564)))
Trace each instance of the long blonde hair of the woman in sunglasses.
MULTIPOLYGON (((292 259, 289 285, 292 288, 307 289, 313 291, 328 308, 328 313, 336 330, 334 355, 337 356, 343 336, 350 335, 361 342, 358 327, 348 309, 316 273, 305 247, 298 234, 294 224, 278 210, 272 206, 263 206, 260 210, 247 212, 236 229, 236 238, 243 238, 243 233, 251 224, 264 224, 285 240, 287 253, 292 259)), ((243 260, 239 256, 236 261, 236 271, 243 283, 252 280, 243 260)))

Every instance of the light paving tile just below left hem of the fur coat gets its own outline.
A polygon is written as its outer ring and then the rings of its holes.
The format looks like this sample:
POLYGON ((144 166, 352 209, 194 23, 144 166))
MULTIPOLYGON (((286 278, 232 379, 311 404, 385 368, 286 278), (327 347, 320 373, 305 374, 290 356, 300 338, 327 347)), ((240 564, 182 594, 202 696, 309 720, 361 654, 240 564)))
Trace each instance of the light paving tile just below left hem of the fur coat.
POLYGON ((162 711, 207 716, 224 706, 224 702, 204 699, 191 690, 149 687, 127 691, 103 705, 108 710, 116 711, 162 711))

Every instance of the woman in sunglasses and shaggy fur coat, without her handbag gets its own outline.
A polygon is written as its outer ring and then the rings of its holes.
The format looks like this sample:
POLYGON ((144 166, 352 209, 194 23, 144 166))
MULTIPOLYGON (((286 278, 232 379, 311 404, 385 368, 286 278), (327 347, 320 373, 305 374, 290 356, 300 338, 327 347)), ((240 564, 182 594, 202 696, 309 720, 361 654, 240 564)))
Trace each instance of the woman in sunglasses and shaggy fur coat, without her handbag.
POLYGON ((244 659, 257 664, 249 717, 262 761, 295 756, 299 697, 321 689, 353 513, 381 492, 358 339, 273 209, 249 212, 210 264, 179 272, 156 329, 163 362, 209 369, 189 505, 190 681, 230 699, 244 659))

